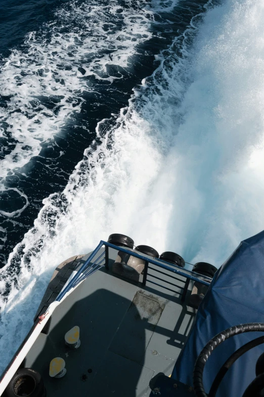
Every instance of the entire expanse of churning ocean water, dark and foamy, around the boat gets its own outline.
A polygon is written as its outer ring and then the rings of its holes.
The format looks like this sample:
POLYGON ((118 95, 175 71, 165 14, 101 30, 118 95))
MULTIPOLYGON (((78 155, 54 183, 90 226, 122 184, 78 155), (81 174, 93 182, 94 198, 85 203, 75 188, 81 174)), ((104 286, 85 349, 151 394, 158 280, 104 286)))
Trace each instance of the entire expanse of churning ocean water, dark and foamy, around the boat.
POLYGON ((219 267, 262 230, 264 5, 0 6, 1 372, 54 268, 109 234, 219 267))

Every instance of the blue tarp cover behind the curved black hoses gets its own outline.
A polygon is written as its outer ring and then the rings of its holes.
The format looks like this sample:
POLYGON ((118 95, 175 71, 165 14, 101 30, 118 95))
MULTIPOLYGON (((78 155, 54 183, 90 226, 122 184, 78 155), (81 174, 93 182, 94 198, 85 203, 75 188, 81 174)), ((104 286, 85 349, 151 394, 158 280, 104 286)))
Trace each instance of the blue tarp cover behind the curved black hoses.
MULTIPOLYGON (((219 332, 246 322, 264 322, 264 231, 242 241, 215 273, 172 378, 192 385, 196 358, 207 342, 219 332)), ((206 393, 226 359, 240 346, 261 335, 263 333, 251 332, 234 336, 212 352, 203 375, 206 393)), ((216 396, 242 397, 255 378, 255 363, 263 351, 264 344, 241 356, 225 375, 216 396)))

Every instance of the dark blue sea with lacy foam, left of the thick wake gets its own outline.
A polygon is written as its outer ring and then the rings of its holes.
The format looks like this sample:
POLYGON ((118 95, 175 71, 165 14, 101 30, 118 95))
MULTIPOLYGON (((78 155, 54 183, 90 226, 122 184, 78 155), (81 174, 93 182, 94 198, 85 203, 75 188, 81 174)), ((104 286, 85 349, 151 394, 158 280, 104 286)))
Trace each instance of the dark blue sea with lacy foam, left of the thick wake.
POLYGON ((204 4, 1 0, 2 266, 204 4))

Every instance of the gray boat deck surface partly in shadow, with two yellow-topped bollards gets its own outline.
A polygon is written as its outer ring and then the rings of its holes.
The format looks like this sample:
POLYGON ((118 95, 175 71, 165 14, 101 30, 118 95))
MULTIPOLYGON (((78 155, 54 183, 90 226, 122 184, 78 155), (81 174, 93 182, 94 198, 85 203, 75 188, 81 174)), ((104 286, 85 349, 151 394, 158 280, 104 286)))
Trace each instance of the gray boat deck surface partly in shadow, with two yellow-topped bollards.
POLYGON ((49 334, 40 334, 26 356, 25 366, 42 375, 49 397, 144 397, 150 395, 153 376, 171 374, 194 309, 154 284, 142 287, 115 276, 111 263, 116 254, 109 249, 110 270, 88 277, 60 304, 49 334), (81 345, 71 350, 64 335, 74 326, 80 328, 81 345), (49 376, 54 357, 66 362, 61 379, 49 376))

